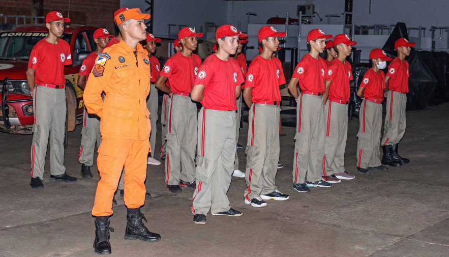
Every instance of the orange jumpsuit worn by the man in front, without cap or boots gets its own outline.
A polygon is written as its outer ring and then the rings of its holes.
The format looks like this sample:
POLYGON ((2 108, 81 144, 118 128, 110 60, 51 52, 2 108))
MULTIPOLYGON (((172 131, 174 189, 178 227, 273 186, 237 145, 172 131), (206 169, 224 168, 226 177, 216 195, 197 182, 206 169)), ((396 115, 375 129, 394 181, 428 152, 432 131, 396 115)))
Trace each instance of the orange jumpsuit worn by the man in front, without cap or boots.
POLYGON ((150 89, 148 55, 140 44, 134 50, 123 40, 99 54, 87 81, 83 100, 88 113, 101 118, 94 216, 112 214, 112 198, 125 166, 125 205, 138 208, 145 201, 146 158, 149 151, 150 89), (105 99, 101 93, 105 93, 105 99))

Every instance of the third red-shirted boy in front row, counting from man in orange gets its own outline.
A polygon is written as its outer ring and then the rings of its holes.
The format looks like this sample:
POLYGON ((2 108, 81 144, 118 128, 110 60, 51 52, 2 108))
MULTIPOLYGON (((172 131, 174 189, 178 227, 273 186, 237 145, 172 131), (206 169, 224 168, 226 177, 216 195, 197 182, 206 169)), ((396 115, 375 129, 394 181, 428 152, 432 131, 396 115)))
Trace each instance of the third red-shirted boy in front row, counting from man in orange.
MULTIPOLYGON (((293 153, 293 190, 309 192, 309 187, 330 187, 330 180, 323 180, 324 157, 324 112, 323 94, 325 60, 319 57, 325 47, 326 38, 315 29, 307 35, 310 52, 296 65, 288 89, 297 101, 295 150, 293 153), (300 85, 301 95, 297 85, 300 85)), ((338 183, 339 181, 332 181, 338 183)))

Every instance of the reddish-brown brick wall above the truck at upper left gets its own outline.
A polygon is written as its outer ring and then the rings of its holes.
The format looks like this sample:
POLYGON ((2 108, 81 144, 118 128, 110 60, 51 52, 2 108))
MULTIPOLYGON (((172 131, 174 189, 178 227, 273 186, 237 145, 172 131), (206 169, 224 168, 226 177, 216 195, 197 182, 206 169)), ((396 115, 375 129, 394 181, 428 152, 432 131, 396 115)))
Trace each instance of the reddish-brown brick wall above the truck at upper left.
MULTIPOLYGON (((33 15, 33 0, 0 0, 0 6, 0 14, 33 15)), ((113 14, 118 8, 120 8, 119 0, 98 0, 96 2, 92 0, 71 0, 69 13, 69 1, 44 0, 44 16, 50 11, 58 11, 64 17, 69 17, 72 24, 106 27, 111 33, 114 31, 113 14)), ((3 22, 4 19, 0 17, 0 23, 3 22)), ((7 22, 15 23, 15 19, 9 18, 7 22)), ((23 19, 19 18, 19 24, 22 22, 23 19)))

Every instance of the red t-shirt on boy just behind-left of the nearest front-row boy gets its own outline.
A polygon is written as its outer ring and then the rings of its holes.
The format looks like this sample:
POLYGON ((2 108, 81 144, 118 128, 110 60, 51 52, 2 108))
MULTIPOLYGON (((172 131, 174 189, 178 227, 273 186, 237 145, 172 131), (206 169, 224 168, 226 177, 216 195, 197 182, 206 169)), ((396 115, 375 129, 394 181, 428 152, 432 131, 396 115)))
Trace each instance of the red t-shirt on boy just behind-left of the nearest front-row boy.
POLYGON ((191 57, 184 56, 181 52, 171 56, 165 62, 164 68, 159 73, 160 76, 168 78, 170 90, 175 94, 192 92, 193 81, 201 66, 201 59, 195 53, 191 57))

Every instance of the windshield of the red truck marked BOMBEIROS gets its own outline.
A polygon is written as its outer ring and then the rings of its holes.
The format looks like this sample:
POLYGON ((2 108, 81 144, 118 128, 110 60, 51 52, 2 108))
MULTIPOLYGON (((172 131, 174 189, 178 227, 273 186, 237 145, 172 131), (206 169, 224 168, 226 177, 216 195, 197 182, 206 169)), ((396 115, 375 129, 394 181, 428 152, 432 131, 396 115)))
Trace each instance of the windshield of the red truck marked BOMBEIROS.
MULTIPOLYGON (((29 59, 31 50, 47 32, 0 32, 0 58, 29 59)), ((62 39, 70 44, 71 34, 63 34, 62 39)))

